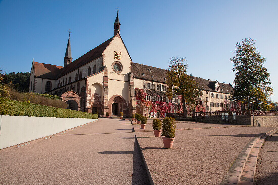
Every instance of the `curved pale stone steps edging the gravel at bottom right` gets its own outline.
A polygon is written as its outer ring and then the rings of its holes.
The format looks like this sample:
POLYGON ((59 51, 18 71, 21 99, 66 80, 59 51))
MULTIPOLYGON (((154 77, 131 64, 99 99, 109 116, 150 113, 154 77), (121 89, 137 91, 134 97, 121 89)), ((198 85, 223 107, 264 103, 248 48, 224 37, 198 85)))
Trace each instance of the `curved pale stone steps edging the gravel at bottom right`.
POLYGON ((278 128, 272 129, 249 141, 233 162, 221 185, 253 184, 259 149, 264 140, 277 131, 278 128))

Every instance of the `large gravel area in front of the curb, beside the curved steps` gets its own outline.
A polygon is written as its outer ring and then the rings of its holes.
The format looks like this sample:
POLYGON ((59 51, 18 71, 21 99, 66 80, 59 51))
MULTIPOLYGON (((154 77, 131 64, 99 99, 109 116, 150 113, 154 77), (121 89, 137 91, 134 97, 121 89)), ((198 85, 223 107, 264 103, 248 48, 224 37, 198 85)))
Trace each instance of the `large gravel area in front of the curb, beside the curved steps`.
POLYGON ((176 131, 172 149, 153 132, 136 132, 156 185, 220 184, 242 148, 269 127, 176 131))

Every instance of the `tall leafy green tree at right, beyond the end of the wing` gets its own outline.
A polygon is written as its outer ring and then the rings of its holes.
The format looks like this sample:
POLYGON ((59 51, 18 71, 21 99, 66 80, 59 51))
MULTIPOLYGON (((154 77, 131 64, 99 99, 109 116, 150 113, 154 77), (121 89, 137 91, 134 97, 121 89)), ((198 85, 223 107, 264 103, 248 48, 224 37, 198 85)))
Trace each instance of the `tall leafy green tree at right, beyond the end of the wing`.
POLYGON ((263 64, 265 58, 254 46, 254 39, 244 39, 235 44, 235 56, 230 60, 234 63, 235 73, 234 96, 251 96, 252 91, 260 84, 271 84, 267 69, 263 64))

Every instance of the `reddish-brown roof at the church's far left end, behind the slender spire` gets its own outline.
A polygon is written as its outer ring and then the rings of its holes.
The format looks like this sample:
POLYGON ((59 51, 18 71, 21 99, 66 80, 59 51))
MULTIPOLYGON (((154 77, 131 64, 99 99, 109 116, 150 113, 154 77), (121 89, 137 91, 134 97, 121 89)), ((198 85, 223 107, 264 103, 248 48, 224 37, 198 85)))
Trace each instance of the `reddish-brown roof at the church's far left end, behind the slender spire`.
POLYGON ((39 78, 57 79, 63 70, 63 66, 55 66, 52 64, 34 62, 33 65, 34 76, 39 78))

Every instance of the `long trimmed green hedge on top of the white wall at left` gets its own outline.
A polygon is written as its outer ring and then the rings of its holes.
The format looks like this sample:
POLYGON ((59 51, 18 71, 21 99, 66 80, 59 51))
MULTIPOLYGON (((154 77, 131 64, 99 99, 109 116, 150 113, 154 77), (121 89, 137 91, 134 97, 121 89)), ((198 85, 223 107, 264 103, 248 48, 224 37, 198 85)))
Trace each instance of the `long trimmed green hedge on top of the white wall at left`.
POLYGON ((2 98, 0 98, 0 115, 98 119, 98 115, 88 112, 62 109, 58 107, 51 107, 2 98))

